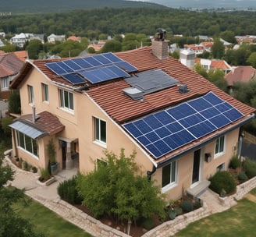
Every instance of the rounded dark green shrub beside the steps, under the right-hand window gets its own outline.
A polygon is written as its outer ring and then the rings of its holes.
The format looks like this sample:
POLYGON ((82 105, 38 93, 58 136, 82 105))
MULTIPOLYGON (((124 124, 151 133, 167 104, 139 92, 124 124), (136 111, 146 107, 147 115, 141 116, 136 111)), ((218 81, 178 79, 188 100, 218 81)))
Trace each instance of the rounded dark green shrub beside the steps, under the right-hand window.
POLYGON ((229 172, 217 172, 210 179, 211 184, 209 186, 215 193, 222 193, 225 190, 226 193, 231 193, 236 189, 236 181, 229 172))

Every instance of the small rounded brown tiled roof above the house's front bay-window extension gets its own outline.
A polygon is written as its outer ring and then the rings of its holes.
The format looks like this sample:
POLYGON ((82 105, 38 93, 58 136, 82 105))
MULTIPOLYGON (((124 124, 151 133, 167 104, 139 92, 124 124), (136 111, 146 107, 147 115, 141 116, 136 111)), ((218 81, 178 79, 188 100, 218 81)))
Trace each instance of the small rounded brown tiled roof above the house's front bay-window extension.
POLYGON ((65 128, 65 126, 59 122, 59 119, 48 111, 42 111, 37 114, 36 122, 32 122, 32 114, 22 115, 18 120, 29 123, 30 126, 40 129, 44 133, 48 133, 49 136, 59 133, 65 128))

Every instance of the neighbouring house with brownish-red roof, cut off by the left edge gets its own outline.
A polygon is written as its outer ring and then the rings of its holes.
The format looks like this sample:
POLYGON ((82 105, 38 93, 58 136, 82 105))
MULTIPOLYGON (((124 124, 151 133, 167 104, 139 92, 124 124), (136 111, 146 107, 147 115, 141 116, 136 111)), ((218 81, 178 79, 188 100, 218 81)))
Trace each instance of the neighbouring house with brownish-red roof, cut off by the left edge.
POLYGON ((8 99, 9 83, 19 73, 23 64, 14 53, 0 54, 0 99, 8 99))

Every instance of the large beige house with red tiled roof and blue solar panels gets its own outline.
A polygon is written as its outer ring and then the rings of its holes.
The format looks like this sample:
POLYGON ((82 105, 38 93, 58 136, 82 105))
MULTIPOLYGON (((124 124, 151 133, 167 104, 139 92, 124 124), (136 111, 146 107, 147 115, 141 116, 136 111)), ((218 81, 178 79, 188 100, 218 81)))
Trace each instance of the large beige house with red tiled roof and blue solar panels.
POLYGON ((131 51, 27 61, 12 81, 22 114, 13 156, 46 168, 53 139, 59 170, 91 172, 103 151, 136 151, 140 175, 166 199, 198 196, 239 150, 240 126, 255 109, 168 55, 169 41, 131 51))

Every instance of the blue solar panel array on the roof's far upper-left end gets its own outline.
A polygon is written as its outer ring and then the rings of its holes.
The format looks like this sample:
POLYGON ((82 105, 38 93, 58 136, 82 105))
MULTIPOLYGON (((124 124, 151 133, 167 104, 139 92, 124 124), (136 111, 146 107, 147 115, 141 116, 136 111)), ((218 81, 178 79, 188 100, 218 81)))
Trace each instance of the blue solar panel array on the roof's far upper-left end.
POLYGON ((45 65, 73 85, 85 83, 85 79, 94 84, 129 77, 129 73, 137 71, 136 67, 112 53, 48 62, 45 65))

